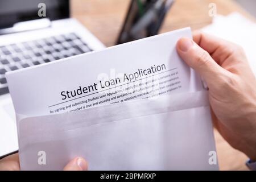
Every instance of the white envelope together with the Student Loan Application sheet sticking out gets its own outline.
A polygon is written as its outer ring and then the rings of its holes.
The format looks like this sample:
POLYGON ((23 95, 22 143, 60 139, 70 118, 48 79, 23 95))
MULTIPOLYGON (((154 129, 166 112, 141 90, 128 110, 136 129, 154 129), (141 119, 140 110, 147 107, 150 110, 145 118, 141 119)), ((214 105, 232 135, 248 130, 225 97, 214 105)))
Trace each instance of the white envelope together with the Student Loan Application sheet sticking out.
POLYGON ((218 169, 207 92, 176 52, 182 36, 190 28, 7 73, 22 169, 74 156, 93 170, 218 169))

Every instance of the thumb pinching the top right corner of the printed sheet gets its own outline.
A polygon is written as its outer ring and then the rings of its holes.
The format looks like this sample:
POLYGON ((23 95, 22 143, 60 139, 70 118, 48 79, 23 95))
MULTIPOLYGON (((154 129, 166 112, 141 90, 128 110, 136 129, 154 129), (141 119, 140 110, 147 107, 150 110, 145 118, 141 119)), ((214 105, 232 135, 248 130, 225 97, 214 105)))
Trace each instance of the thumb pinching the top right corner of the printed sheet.
POLYGON ((176 49, 181 59, 189 67, 199 72, 207 83, 214 78, 216 79, 223 72, 222 68, 212 59, 209 53, 189 38, 179 39, 176 49))

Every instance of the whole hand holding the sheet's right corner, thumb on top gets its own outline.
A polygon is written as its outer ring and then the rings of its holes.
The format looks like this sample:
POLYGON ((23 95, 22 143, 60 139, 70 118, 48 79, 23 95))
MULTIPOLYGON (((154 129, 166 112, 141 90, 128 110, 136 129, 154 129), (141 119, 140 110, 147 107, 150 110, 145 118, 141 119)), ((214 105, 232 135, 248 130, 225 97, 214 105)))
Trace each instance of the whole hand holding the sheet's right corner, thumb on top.
POLYGON ((231 146, 256 160, 256 79, 243 49, 201 32, 193 41, 181 38, 176 48, 208 85, 214 126, 231 146))

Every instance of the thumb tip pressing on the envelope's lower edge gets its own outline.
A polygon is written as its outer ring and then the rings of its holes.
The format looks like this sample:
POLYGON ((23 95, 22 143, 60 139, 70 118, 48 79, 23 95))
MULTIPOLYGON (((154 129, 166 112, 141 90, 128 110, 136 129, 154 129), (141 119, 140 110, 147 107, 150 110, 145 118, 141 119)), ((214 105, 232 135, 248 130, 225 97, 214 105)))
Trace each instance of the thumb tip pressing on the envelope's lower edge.
POLYGON ((88 169, 87 162, 83 158, 72 159, 65 167, 64 171, 86 171, 88 169))

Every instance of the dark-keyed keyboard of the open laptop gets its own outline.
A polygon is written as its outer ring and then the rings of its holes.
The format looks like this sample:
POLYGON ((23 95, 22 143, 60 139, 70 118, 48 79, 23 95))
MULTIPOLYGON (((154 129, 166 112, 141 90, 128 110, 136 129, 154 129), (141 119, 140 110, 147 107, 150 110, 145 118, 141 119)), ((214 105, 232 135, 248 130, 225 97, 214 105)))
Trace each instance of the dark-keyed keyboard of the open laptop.
POLYGON ((0 95, 8 93, 5 73, 92 51, 74 33, 0 46, 0 95))

